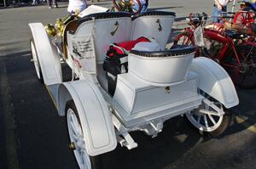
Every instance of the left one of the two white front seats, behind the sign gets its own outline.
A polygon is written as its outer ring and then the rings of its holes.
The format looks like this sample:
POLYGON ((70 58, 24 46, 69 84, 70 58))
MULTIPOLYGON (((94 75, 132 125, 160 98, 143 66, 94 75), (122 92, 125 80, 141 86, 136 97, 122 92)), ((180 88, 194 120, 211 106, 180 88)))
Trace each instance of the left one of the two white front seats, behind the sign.
POLYGON ((130 40, 131 15, 122 12, 89 14, 79 20, 75 36, 90 33, 94 33, 95 36, 97 64, 102 64, 110 43, 130 40))

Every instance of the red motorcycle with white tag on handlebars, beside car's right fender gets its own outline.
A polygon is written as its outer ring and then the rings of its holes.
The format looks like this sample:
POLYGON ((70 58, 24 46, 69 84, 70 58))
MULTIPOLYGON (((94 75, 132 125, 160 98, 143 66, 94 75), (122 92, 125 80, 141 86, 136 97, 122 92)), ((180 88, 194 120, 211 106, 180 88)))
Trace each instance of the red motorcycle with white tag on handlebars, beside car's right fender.
MULTIPOLYGON (((227 17, 228 18, 228 17, 227 17)), ((243 32, 233 30, 211 30, 202 28, 207 20, 206 14, 190 14, 189 25, 177 35, 174 45, 197 46, 197 55, 204 55, 216 60, 230 74, 237 87, 256 87, 256 43, 248 40, 243 32), (195 32, 197 29, 202 31, 195 32), (199 37, 198 37, 199 35, 199 37), (202 42, 198 42, 202 39, 202 42), (203 43, 203 45, 198 45, 203 43)), ((223 24, 226 24, 223 22, 223 24)))

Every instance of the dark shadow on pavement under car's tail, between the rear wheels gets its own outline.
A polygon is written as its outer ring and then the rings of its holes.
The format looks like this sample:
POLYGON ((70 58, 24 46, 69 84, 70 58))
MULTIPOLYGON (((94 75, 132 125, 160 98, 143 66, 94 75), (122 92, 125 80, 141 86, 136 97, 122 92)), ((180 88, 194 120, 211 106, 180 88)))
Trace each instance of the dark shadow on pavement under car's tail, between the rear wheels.
POLYGON ((151 138, 143 132, 131 132, 137 142, 136 149, 121 148, 102 155, 105 169, 155 169, 164 168, 185 155, 189 149, 201 143, 202 138, 182 117, 174 117, 164 124, 163 132, 151 138))

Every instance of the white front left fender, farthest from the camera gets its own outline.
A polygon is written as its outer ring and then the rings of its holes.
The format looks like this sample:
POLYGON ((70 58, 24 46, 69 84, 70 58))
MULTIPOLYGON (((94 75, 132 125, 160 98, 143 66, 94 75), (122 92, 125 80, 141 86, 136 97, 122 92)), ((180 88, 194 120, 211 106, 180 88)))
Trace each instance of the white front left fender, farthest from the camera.
POLYGON ((49 37, 44 30, 44 25, 42 23, 31 23, 29 26, 37 49, 44 83, 46 85, 61 83, 62 73, 60 58, 49 41, 49 37))

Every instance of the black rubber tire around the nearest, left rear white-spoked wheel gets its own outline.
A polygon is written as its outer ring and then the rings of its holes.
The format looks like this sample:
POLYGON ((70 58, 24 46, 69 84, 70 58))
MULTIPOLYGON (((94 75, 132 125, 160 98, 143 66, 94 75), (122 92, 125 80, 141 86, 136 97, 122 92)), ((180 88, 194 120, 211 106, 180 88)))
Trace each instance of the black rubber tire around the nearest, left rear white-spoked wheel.
MULTIPOLYGON (((81 121, 79 118, 79 113, 78 110, 73 102, 73 100, 69 100, 67 101, 66 104, 66 109, 65 109, 65 115, 66 115, 66 119, 67 119, 67 110, 68 109, 72 109, 74 114, 77 116, 79 123, 81 125, 81 121)), ((68 130, 68 127, 67 127, 68 130)), ((69 138, 70 141, 70 138, 69 138)), ((75 155, 73 153, 73 157, 75 158, 75 155)), ((79 166, 79 164, 77 163, 77 165, 79 166)), ((101 155, 96 155, 96 156, 90 156, 90 165, 91 165, 91 169, 102 169, 102 156, 101 155)))

